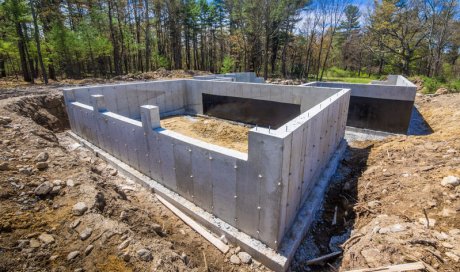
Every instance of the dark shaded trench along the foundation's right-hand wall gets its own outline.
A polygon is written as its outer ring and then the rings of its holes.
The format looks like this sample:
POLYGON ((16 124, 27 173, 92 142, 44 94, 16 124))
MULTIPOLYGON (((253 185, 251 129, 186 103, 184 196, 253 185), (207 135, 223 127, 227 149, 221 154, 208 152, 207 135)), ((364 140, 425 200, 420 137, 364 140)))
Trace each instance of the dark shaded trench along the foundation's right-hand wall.
POLYGON ((328 263, 333 267, 340 267, 341 257, 330 259, 321 265, 307 266, 306 261, 341 250, 340 245, 350 237, 356 219, 353 207, 358 202, 358 179, 366 170, 372 147, 373 145, 365 148, 348 146, 331 179, 322 210, 295 254, 291 264, 292 271, 334 271, 328 263))

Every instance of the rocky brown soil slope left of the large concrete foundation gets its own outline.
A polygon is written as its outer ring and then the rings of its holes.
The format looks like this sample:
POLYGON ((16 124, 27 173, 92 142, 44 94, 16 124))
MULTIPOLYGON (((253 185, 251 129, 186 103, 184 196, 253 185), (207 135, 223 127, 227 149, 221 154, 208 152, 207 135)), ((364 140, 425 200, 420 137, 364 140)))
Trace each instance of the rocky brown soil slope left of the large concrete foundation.
POLYGON ((44 92, 0 100, 0 271, 266 270, 67 136, 62 96, 44 92))

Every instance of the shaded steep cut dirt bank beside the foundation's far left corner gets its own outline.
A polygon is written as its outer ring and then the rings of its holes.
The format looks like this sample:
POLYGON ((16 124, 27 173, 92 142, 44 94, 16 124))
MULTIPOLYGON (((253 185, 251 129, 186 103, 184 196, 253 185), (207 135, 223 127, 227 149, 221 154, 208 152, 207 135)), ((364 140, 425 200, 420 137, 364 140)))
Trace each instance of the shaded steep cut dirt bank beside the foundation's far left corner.
POLYGON ((70 128, 62 94, 27 96, 7 105, 8 110, 30 117, 37 124, 54 132, 70 128))

